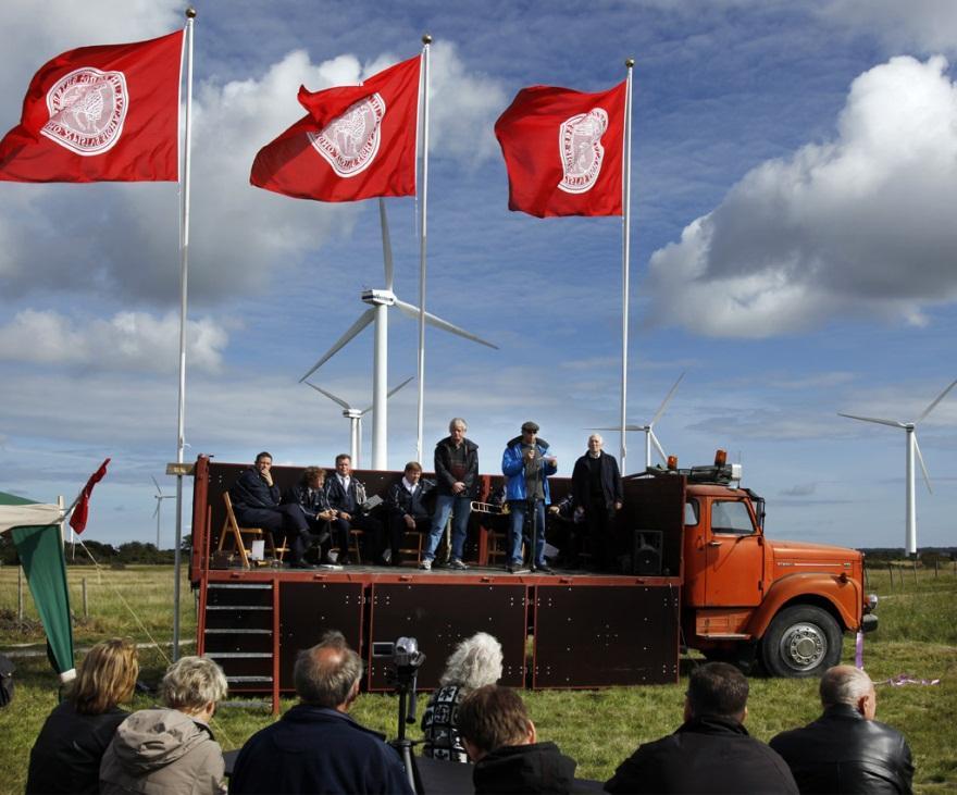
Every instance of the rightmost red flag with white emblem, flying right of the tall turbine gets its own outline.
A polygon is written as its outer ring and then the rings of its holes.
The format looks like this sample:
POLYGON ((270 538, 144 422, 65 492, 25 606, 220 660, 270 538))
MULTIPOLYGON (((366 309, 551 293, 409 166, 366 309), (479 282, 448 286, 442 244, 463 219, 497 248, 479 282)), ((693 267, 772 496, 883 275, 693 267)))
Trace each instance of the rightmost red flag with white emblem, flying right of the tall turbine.
POLYGON ((532 86, 495 123, 509 210, 621 215, 625 86, 598 94, 532 86))

